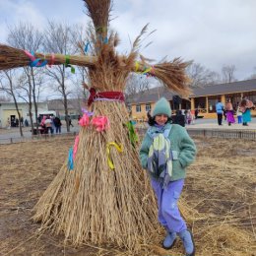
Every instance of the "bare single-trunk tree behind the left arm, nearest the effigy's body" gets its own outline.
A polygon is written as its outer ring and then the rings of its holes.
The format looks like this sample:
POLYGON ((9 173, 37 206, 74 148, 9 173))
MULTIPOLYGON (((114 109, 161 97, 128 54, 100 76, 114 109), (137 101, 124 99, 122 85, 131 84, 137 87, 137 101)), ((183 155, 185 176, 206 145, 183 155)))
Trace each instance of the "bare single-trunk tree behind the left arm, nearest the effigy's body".
MULTIPOLYGON (((46 52, 56 52, 64 55, 73 54, 76 52, 74 34, 72 34, 72 28, 63 23, 57 24, 54 22, 48 22, 48 26, 44 32, 44 51, 46 52)), ((67 65, 58 65, 51 68, 47 68, 45 74, 51 78, 52 86, 55 92, 58 92, 63 99, 65 120, 67 131, 70 131, 69 121, 68 121, 68 96, 71 94, 70 86, 68 80, 70 79, 70 69, 66 68, 68 66, 68 55, 67 55, 67 65)))

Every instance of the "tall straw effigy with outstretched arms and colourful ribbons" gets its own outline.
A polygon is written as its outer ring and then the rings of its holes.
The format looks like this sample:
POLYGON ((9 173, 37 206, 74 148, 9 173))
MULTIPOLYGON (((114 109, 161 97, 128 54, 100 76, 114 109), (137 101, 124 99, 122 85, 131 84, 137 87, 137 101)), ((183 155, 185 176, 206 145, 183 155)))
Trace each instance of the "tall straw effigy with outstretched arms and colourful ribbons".
POLYGON ((127 56, 118 55, 117 34, 108 32, 112 1, 84 2, 95 27, 91 33, 94 56, 32 55, 0 45, 0 70, 37 67, 45 61, 50 65, 84 66, 89 69, 87 87, 94 94, 90 109, 93 116, 85 113, 85 123, 76 140, 76 154, 75 146, 71 151, 73 162, 65 161, 35 205, 33 220, 41 222, 42 229, 64 233, 65 240, 74 245, 112 244, 139 251, 143 244, 151 242, 158 229, 157 204, 148 176, 140 165, 138 144, 131 141, 122 93, 129 73, 137 72, 154 76, 168 89, 188 96, 185 68, 189 63, 179 58, 154 66, 143 58, 136 61, 140 38, 147 27, 127 56), (105 100, 102 97, 107 94, 99 96, 102 93, 117 93, 117 96, 105 100), (105 120, 103 127, 97 126, 94 118, 105 120))

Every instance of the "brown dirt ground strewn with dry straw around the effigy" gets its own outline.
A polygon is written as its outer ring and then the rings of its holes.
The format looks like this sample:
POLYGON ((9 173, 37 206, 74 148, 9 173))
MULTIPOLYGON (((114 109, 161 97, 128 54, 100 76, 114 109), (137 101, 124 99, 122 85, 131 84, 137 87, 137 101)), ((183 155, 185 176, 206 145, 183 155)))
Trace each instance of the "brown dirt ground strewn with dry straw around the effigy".
MULTIPOLYGON (((195 138, 197 160, 188 168, 182 214, 197 255, 256 255, 256 143, 195 138)), ((37 235, 32 207, 56 175, 74 138, 0 145, 0 255, 120 255, 109 248, 72 248, 63 237, 37 235)), ((182 255, 180 242, 171 252, 182 255)), ((123 252, 125 253, 125 252, 123 252)), ((174 253, 174 254, 173 254, 174 253)), ((124 255, 124 254, 123 254, 124 255)))

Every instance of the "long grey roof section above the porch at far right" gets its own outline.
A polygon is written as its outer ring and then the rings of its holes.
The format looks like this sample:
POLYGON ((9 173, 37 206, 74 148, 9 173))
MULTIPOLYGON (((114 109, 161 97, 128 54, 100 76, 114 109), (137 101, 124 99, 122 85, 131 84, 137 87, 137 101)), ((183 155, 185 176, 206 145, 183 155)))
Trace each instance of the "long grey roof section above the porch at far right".
POLYGON ((193 95, 191 97, 218 96, 251 91, 256 91, 256 79, 207 86, 205 88, 194 88, 193 95))

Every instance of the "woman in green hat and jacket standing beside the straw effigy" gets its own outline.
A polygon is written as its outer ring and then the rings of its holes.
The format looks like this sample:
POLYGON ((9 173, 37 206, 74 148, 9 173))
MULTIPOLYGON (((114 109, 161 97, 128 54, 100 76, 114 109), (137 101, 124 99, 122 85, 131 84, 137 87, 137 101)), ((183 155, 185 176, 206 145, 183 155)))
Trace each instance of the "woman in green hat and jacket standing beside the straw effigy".
POLYGON ((196 147, 186 129, 171 124, 170 117, 169 102, 161 97, 149 120, 150 128, 142 142, 140 160, 150 173, 158 198, 159 221, 166 229, 162 247, 170 249, 179 236, 186 255, 193 256, 193 235, 180 216, 177 201, 186 176, 185 168, 195 159, 196 147))

